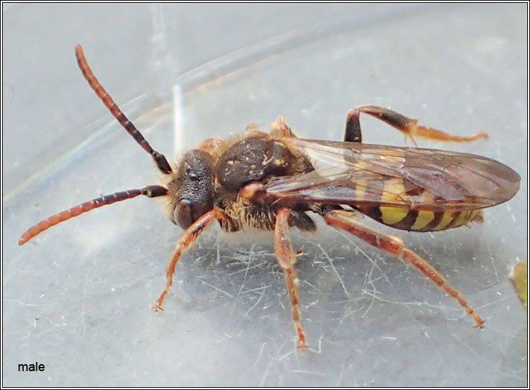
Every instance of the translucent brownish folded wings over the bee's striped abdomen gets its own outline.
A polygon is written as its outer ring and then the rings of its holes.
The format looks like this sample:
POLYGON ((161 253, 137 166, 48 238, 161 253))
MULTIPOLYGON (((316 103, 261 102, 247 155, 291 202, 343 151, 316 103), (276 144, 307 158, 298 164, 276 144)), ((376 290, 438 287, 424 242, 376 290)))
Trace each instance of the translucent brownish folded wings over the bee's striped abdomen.
POLYGON ((266 196, 287 203, 388 205, 411 210, 475 210, 503 203, 520 175, 499 161, 459 152, 361 143, 282 139, 315 171, 274 178, 266 196))

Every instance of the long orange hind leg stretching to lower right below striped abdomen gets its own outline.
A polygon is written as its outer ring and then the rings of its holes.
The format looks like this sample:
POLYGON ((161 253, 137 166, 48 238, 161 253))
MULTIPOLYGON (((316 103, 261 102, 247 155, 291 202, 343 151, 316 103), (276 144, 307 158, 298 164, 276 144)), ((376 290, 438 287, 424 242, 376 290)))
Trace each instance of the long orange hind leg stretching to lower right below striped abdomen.
POLYGON ((378 247, 386 252, 393 254, 399 259, 406 261, 407 263, 415 266, 417 270, 423 273, 425 276, 429 277, 430 280, 438 284, 438 287, 445 290, 447 294, 452 296, 454 299, 460 303, 462 308, 466 310, 468 315, 471 315, 476 322, 476 326, 482 328, 484 324, 484 319, 471 308, 471 306, 461 297, 459 291, 453 289, 447 284, 445 277, 438 273, 431 264, 426 260, 422 259, 415 252, 408 250, 403 245, 403 241, 397 237, 389 236, 388 234, 380 233, 374 229, 364 226, 361 222, 355 219, 354 212, 345 211, 345 210, 331 210, 324 215, 324 220, 327 224, 335 226, 338 229, 343 229, 348 231, 355 236, 362 238, 366 242, 370 243, 374 247, 378 247))

